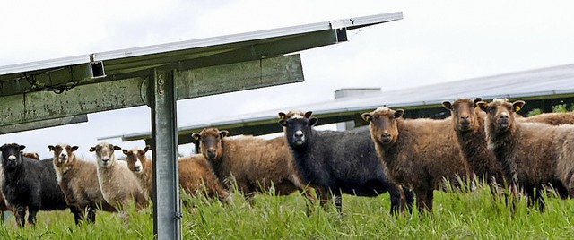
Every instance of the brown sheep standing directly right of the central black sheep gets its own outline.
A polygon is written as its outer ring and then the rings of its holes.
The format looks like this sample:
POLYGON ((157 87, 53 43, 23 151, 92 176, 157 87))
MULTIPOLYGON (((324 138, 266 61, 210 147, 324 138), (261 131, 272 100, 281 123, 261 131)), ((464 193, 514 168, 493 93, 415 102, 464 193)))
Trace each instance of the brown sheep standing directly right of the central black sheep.
POLYGON ((434 190, 462 187, 469 167, 457 148, 452 120, 404 119, 403 109, 378 107, 361 117, 369 122, 378 159, 396 184, 414 190, 420 212, 432 212, 434 190))

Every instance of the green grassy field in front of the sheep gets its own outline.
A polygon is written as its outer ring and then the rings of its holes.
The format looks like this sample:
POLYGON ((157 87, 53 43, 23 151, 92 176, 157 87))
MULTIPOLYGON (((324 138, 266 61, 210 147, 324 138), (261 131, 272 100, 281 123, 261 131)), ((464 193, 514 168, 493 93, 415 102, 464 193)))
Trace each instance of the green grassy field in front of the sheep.
MULTIPOLYGON (((184 196, 184 239, 572 239, 574 201, 547 199, 544 212, 516 212, 492 201, 488 188, 472 193, 435 192, 433 216, 418 212, 389 214, 388 194, 377 198, 344 196, 344 214, 334 207, 306 216, 298 194, 257 195, 253 206, 235 193, 229 204, 184 196)), ((36 227, 13 227, 0 239, 152 239, 152 209, 130 209, 125 223, 116 214, 100 213, 95 224, 74 225, 69 211, 40 212, 36 227)))

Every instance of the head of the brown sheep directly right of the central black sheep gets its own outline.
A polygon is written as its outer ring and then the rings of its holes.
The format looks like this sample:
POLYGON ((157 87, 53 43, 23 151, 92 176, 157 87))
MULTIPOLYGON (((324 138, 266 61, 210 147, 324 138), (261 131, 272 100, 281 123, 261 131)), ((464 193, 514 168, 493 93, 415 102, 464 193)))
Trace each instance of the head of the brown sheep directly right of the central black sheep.
POLYGON ((403 109, 378 107, 375 111, 362 114, 361 117, 369 122, 370 135, 373 140, 386 145, 396 142, 398 138, 397 119, 403 114, 403 109))

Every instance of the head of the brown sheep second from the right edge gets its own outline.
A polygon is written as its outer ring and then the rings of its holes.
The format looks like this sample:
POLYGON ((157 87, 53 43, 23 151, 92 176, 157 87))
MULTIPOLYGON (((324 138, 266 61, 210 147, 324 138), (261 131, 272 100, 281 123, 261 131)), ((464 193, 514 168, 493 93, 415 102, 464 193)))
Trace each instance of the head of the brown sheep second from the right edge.
POLYGON ((443 101, 442 106, 450 110, 452 113, 453 121, 455 122, 455 130, 466 132, 475 130, 478 127, 479 117, 475 112, 476 103, 482 99, 457 99, 454 102, 443 101))

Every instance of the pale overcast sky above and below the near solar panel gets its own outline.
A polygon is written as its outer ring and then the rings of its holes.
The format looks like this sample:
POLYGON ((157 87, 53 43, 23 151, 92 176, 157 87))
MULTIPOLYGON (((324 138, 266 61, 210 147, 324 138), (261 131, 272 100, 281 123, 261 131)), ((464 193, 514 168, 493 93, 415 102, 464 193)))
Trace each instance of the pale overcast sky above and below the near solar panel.
MULTIPOLYGON (((2 0, 0 66, 403 12, 401 21, 352 30, 349 42, 301 52, 305 82, 178 101, 178 126, 185 126, 288 110, 333 99, 342 88, 396 90, 573 64, 572 9, 571 1, 2 0)), ((84 124, 4 134, 0 142, 26 145, 42 158, 51 156, 49 144, 67 142, 92 159, 88 149, 98 138, 151 131, 149 107, 88 118, 84 124)), ((143 147, 143 141, 109 141, 143 147)))

